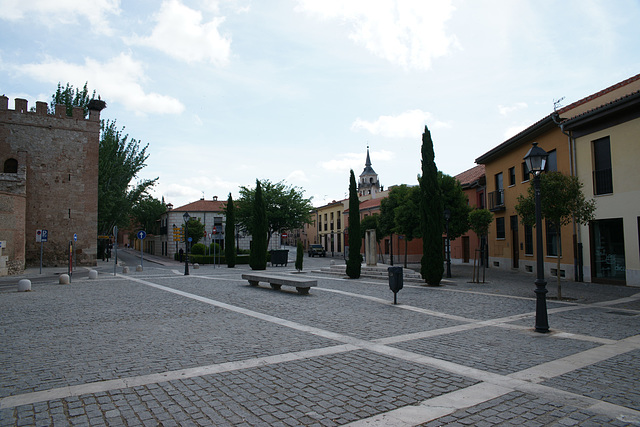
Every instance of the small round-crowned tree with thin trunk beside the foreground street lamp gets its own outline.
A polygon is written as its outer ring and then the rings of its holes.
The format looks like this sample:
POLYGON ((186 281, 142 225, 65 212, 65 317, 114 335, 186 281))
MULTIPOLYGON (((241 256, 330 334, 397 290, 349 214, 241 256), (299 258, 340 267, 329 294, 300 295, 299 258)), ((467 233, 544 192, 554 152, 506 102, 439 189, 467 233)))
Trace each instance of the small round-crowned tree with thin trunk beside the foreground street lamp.
MULTIPOLYGON (((582 192, 582 182, 575 176, 561 172, 549 172, 540 176, 540 213, 547 223, 556 230, 558 257, 556 277, 558 283, 558 299, 562 299, 560 284, 560 231, 565 225, 575 221, 577 224, 588 224, 594 217, 596 209, 594 200, 587 200, 582 192)), ((516 212, 526 225, 535 226, 535 189, 534 181, 527 190, 527 195, 518 196, 516 212)))

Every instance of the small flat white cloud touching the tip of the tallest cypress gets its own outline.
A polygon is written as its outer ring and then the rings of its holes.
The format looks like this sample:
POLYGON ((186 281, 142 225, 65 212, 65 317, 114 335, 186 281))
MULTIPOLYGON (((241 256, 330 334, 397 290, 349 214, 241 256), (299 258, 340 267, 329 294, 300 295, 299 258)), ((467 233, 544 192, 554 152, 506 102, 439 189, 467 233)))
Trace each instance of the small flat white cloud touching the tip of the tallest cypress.
POLYGON ((421 135, 425 125, 429 129, 451 127, 449 123, 435 120, 429 112, 409 110, 397 116, 380 116, 373 122, 357 118, 351 124, 351 130, 366 130, 373 135, 390 138, 412 138, 421 135))

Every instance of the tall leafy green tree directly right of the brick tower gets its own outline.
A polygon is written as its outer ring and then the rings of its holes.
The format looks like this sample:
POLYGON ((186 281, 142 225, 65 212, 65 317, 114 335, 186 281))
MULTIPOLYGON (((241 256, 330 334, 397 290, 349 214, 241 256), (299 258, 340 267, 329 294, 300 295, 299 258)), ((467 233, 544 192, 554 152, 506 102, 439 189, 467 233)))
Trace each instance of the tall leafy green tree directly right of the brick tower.
POLYGON ((113 226, 126 226, 135 206, 147 196, 158 178, 131 181, 146 166, 147 148, 123 135, 115 121, 103 121, 98 159, 98 233, 109 234, 113 226))

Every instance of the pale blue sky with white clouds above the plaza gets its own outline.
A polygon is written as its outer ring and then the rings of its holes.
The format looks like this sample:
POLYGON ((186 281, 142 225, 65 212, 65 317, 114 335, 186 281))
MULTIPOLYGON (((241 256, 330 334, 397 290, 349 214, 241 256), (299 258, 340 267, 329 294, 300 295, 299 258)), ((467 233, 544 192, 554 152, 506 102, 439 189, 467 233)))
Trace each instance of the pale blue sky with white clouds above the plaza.
POLYGON ((640 73, 638 0, 0 0, 0 93, 88 82, 148 144, 139 179, 175 207, 284 181, 348 196, 439 170, 640 73))

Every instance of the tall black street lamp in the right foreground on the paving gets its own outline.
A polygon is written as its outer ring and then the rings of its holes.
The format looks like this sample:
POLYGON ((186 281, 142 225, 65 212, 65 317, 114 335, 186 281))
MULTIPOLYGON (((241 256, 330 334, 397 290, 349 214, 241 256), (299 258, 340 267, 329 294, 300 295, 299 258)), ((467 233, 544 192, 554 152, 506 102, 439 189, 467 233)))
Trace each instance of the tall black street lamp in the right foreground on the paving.
POLYGON ((542 213, 540 208, 540 174, 544 172, 549 154, 538 143, 534 142, 531 149, 524 156, 524 161, 533 174, 533 188, 535 190, 536 203, 536 332, 549 332, 549 319, 547 317, 547 281, 544 280, 544 259, 542 254, 542 213))

